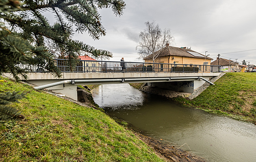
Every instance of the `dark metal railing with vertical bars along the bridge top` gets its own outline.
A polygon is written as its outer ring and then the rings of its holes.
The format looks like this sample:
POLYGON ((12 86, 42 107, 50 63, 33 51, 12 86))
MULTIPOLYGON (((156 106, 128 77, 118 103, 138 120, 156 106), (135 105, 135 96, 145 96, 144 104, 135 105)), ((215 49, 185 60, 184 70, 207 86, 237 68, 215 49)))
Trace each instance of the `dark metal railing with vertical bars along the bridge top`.
MULTIPOLYGON (((55 65, 61 72, 220 72, 218 65, 192 65, 192 64, 172 64, 172 63, 141 63, 141 62, 121 62, 121 61, 87 61, 79 60, 75 70, 71 70, 66 59, 55 59, 55 65), (123 68, 122 66, 123 65, 123 68)), ((45 72, 41 67, 21 65, 31 72, 45 72)))

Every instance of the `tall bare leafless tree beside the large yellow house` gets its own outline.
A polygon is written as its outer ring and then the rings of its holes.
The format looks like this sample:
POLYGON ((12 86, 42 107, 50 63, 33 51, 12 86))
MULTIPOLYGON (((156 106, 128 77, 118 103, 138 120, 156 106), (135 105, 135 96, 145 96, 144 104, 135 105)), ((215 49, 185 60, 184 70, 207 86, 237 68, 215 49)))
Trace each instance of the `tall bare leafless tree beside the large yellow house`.
POLYGON ((136 47, 138 54, 141 58, 150 56, 150 59, 154 62, 159 55, 159 50, 165 47, 166 43, 174 42, 174 37, 171 35, 170 29, 160 29, 159 25, 153 21, 145 22, 146 29, 140 32, 140 42, 136 47), (151 55, 153 54, 153 55, 151 55))

